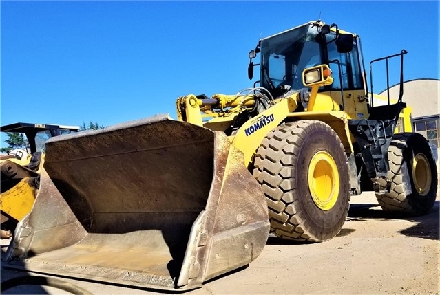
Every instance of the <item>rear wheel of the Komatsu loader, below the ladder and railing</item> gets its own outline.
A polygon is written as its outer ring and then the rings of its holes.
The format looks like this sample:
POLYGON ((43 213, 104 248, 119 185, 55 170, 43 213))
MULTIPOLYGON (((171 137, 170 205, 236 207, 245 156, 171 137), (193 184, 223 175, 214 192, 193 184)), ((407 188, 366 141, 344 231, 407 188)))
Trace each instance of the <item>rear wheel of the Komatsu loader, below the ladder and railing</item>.
POLYGON ((434 206, 437 166, 428 141, 419 133, 400 133, 388 148, 390 193, 377 195, 383 210, 423 215, 434 206))

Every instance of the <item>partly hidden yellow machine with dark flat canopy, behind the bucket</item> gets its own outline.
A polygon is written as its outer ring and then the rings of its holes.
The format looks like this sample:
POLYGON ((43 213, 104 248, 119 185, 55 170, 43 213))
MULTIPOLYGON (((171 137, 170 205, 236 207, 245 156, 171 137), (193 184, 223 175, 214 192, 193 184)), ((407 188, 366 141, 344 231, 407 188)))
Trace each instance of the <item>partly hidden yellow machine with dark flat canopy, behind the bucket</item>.
POLYGON ((77 132, 79 127, 19 122, 1 126, 0 131, 22 133, 28 142, 27 151, 13 149, 0 156, 1 228, 13 231, 34 204, 44 162, 45 141, 53 136, 77 132))

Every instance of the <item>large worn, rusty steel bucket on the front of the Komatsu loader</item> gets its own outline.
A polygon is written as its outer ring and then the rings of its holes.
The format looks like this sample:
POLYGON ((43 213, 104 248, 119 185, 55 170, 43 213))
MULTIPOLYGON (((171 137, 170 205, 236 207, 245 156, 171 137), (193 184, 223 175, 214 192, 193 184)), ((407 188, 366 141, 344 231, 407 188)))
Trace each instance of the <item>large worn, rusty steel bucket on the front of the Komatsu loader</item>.
POLYGON ((167 116, 51 138, 6 266, 193 289, 257 258, 264 193, 224 133, 167 116))

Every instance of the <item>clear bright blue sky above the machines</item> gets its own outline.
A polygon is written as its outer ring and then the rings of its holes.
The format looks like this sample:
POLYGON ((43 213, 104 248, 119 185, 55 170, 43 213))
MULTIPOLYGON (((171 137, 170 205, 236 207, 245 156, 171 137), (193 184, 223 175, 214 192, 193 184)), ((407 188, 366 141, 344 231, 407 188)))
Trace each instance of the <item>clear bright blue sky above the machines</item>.
MULTIPOLYGON (((247 54, 258 39, 319 15, 361 36, 367 67, 406 49, 405 80, 439 78, 439 1, 0 5, 1 124, 108 126, 156 113, 176 118, 178 96, 250 87, 247 54)), ((384 86, 375 81, 377 92, 384 86)))

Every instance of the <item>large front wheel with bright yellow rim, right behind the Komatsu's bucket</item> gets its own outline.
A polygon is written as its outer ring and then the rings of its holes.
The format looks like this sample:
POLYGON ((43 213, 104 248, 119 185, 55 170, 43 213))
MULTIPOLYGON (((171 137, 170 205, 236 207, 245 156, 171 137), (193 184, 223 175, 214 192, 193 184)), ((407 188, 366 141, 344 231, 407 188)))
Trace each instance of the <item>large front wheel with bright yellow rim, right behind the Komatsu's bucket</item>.
POLYGON ((348 164, 330 126, 311 120, 282 124, 264 138, 254 167, 273 234, 326 241, 339 233, 350 201, 348 164))

